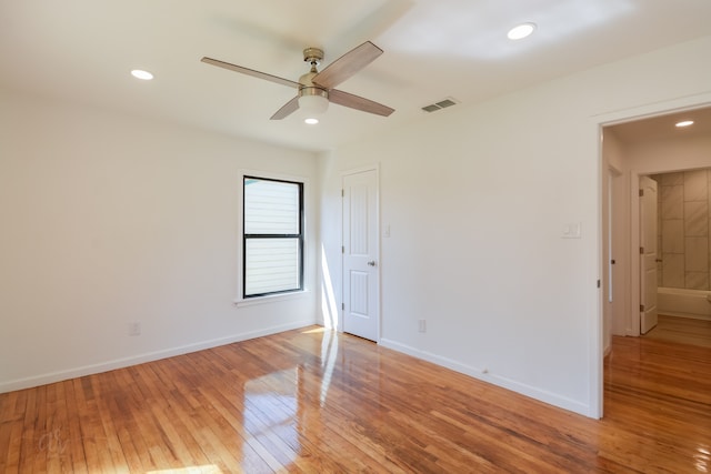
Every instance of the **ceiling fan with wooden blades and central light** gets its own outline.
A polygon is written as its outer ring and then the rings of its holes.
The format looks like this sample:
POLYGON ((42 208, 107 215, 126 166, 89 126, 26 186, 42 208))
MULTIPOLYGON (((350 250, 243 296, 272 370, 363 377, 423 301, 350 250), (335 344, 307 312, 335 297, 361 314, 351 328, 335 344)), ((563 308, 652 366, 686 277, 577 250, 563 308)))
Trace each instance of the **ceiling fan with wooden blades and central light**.
POLYGON ((328 109, 329 102, 368 113, 374 113, 377 115, 388 117, 394 112, 394 109, 362 97, 333 89, 363 69, 365 65, 370 64, 375 58, 382 54, 382 52, 383 51, 375 44, 370 41, 365 41, 319 72, 317 70, 317 65, 319 65, 323 60, 323 50, 319 48, 307 48, 303 50, 303 60, 311 64, 311 70, 301 75, 298 82, 212 58, 206 57, 202 58, 201 61, 219 68, 229 69, 231 71, 241 72, 242 74, 266 79, 278 84, 298 89, 297 97, 282 105, 281 109, 271 117, 271 120, 281 120, 289 117, 300 108, 306 109, 307 112, 313 112, 314 114, 322 113, 328 109))

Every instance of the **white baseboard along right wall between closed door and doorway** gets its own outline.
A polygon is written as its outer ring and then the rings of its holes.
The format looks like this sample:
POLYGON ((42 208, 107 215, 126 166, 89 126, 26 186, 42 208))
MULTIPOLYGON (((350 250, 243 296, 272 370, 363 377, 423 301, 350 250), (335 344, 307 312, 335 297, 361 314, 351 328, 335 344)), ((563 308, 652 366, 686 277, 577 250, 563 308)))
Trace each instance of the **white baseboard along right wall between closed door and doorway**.
POLYGON ((555 393, 551 393, 545 390, 538 389, 535 386, 531 386, 524 383, 517 382, 511 379, 492 374, 490 372, 485 372, 483 369, 472 367, 470 365, 462 364, 461 362, 454 361, 452 359, 442 357, 441 355, 432 354, 425 351, 420 351, 419 349, 409 346, 407 344, 401 344, 397 341, 382 339, 380 340, 380 344, 384 347, 392 349, 394 351, 402 352, 408 355, 412 355, 413 357, 422 359, 424 361, 431 362, 437 365, 441 365, 447 369, 451 369, 464 375, 469 375, 471 377, 479 379, 483 382, 488 382, 493 385, 498 385, 503 389, 511 390, 513 392, 520 393, 531 399, 535 399, 543 403, 548 403, 550 405, 554 405, 563 410, 579 413, 584 416, 591 416, 590 414, 591 407, 575 400, 568 399, 565 396, 560 396, 555 393))

